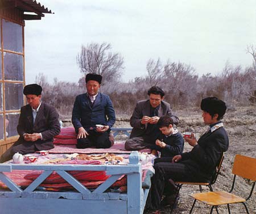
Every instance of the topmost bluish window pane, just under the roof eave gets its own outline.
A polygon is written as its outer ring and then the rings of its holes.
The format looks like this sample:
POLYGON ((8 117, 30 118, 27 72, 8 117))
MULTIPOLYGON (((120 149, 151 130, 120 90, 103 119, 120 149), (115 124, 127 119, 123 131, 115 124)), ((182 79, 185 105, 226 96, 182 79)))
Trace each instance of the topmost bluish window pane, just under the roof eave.
POLYGON ((22 53, 22 26, 3 19, 3 49, 22 53))

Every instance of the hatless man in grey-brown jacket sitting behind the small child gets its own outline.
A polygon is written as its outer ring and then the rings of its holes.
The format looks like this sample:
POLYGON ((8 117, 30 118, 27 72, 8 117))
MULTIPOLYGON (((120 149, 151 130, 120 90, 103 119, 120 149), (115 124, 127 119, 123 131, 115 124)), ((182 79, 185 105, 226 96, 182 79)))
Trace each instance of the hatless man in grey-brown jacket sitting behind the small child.
POLYGON ((130 139, 125 142, 126 150, 141 150, 144 148, 155 149, 156 137, 160 134, 157 126, 160 116, 168 115, 179 123, 171 110, 170 104, 164 102, 164 91, 158 86, 151 87, 147 92, 149 99, 137 102, 130 119, 133 127, 130 139))

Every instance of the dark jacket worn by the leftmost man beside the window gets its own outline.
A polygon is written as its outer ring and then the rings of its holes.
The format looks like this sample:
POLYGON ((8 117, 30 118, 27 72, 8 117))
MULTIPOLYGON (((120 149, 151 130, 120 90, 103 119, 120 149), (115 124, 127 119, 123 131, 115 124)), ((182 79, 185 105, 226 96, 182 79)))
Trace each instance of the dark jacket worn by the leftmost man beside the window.
POLYGON ((42 133, 43 140, 31 143, 35 144, 38 150, 52 149, 54 148, 52 144, 53 137, 60 133, 59 114, 53 106, 42 102, 34 124, 32 108, 27 104, 20 110, 17 131, 19 133, 18 144, 28 142, 23 139, 24 133, 42 133))

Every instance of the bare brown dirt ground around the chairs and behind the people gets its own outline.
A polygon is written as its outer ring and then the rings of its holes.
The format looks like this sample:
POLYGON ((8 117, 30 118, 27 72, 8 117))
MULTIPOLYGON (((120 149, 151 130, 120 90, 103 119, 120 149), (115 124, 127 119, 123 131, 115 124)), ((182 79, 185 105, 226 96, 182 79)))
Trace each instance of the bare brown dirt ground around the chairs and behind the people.
MULTIPOLYGON (((201 111, 195 109, 184 109, 175 111, 176 115, 180 118, 180 124, 177 127, 180 132, 192 131, 199 137, 208 128, 203 123, 201 111)), ((255 144, 256 144, 256 108, 252 107, 237 107, 236 109, 228 110, 224 119, 224 126, 229 136, 229 149, 225 153, 225 158, 222 163, 221 174, 218 176, 217 182, 213 184, 213 190, 229 191, 233 181, 232 164, 236 154, 242 154, 256 158, 255 144)), ((115 127, 130 127, 129 116, 122 116, 117 118, 115 127)), ((191 150, 191 146, 185 143, 184 151, 191 150)), ((244 198, 249 196, 251 183, 245 179, 238 179, 234 193, 240 194, 244 198)), ((205 191, 208 191, 204 187, 205 191)), ((180 190, 180 200, 178 208, 172 213, 189 213, 192 206, 193 199, 192 193, 199 192, 199 187, 183 186, 180 190)), ((256 190, 253 196, 247 202, 250 213, 256 213, 256 190)), ((242 204, 230 205, 232 213, 246 213, 242 204)), ((228 213, 226 206, 218 208, 219 213, 228 213)), ((209 213, 210 207, 203 203, 197 202, 193 213, 209 213)), ((145 211, 144 214, 150 212, 145 211)), ((166 207, 161 213, 170 213, 170 208, 166 207)), ((213 213, 216 213, 214 211, 213 213)))

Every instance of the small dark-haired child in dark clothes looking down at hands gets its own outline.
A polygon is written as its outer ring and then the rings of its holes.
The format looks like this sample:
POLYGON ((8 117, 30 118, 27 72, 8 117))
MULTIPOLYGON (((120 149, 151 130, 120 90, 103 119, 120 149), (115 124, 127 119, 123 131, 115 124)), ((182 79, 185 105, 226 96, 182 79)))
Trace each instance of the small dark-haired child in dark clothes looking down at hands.
POLYGON ((157 123, 160 135, 155 141, 156 150, 160 152, 160 158, 155 158, 154 164, 158 162, 171 162, 177 154, 181 154, 184 148, 184 139, 181 133, 174 128, 174 120, 170 116, 162 116, 157 123))

